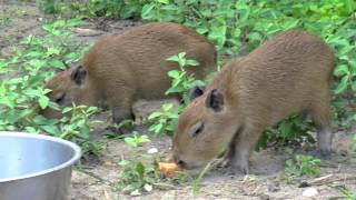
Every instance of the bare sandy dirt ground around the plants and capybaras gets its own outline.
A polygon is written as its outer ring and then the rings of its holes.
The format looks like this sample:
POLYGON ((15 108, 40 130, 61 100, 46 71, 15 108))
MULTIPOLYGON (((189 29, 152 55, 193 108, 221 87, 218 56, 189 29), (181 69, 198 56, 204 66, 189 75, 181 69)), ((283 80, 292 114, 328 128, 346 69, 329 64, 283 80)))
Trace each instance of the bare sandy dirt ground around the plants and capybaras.
MULTIPOLYGON (((13 3, 0 0, 0 58, 10 56, 21 39, 29 34, 42 34, 41 21, 44 19, 33 3, 13 3)), ((92 43, 103 34, 120 33, 140 24, 131 20, 87 20, 73 32, 86 43, 92 43)), ((152 103, 155 104, 155 103, 152 103)), ((157 106, 157 103, 156 103, 157 106)), ((145 111, 144 111, 145 112, 145 111)), ((103 113, 105 116, 106 113, 103 113)), ((139 113, 137 113, 139 114, 139 113)), ((102 127, 93 131, 93 138, 101 138, 102 127)), ((70 199, 73 200, 113 200, 113 199, 327 199, 340 197, 335 186, 345 184, 356 193, 356 154, 349 151, 352 136, 356 129, 335 133, 336 153, 329 161, 322 161, 323 180, 314 180, 312 187, 318 191, 313 198, 303 197, 306 188, 287 184, 279 179, 285 161, 289 159, 283 150, 269 148, 255 152, 251 157, 253 176, 228 176, 221 169, 212 169, 202 180, 197 197, 192 196, 190 183, 169 190, 155 189, 139 197, 120 194, 112 190, 108 181, 115 182, 120 172, 118 162, 130 158, 131 150, 118 139, 110 140, 100 161, 86 163, 85 170, 73 170, 70 199)), ((140 128, 140 132, 147 132, 140 128)), ((152 134, 151 134, 152 136, 152 134)), ((151 137, 151 142, 139 148, 145 153, 155 147, 158 153, 166 156, 171 144, 170 138, 151 137)), ((310 153, 297 150, 298 153, 310 153)), ((307 180, 313 182, 313 179, 307 180)))

